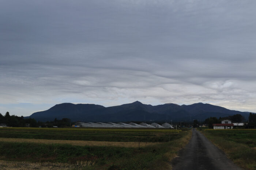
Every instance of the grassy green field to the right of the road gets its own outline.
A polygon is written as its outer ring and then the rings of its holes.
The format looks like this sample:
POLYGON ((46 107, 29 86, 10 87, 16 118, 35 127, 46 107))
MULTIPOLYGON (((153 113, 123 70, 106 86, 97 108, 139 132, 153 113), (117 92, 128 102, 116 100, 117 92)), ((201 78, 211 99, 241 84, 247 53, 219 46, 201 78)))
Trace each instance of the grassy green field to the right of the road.
POLYGON ((244 169, 256 169, 256 129, 201 131, 212 143, 244 169))

